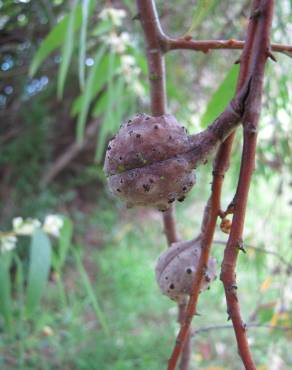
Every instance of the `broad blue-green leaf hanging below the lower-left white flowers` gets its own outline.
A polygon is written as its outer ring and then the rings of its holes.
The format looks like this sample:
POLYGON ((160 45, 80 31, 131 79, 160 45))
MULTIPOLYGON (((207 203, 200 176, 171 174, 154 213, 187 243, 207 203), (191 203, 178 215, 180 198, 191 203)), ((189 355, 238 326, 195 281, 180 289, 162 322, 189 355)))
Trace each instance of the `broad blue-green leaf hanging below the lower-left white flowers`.
POLYGON ((51 242, 48 236, 37 229, 30 245, 26 312, 31 316, 39 305, 47 285, 51 266, 51 242))

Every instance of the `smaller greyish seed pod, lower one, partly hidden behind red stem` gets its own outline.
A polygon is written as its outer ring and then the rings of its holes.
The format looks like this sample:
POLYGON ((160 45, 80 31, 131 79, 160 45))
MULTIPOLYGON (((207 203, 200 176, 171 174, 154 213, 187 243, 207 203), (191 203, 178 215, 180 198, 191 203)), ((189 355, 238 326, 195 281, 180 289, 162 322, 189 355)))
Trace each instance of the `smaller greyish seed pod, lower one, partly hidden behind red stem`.
MULTIPOLYGON (((191 294, 192 283, 201 255, 201 239, 172 244, 158 258, 155 273, 162 294, 179 303, 191 294)), ((216 278, 216 261, 211 257, 204 272, 201 291, 216 278)))

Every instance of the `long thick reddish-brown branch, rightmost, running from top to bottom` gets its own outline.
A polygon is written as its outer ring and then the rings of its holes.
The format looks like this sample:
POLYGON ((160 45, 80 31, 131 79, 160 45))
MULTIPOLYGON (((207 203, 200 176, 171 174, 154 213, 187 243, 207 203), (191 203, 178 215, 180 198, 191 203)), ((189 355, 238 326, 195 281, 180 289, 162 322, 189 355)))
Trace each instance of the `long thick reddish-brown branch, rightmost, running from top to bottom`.
POLYGON ((245 324, 241 319, 236 286, 236 261, 242 247, 242 233, 245 220, 248 192, 254 170, 256 131, 261 109, 264 67, 270 50, 270 29, 273 16, 273 0, 262 0, 254 9, 251 22, 255 24, 254 40, 250 50, 252 81, 243 116, 244 144, 237 196, 234 201, 234 215, 230 236, 224 251, 221 280, 224 285, 227 310, 232 320, 238 351, 246 369, 256 369, 249 350, 245 324))

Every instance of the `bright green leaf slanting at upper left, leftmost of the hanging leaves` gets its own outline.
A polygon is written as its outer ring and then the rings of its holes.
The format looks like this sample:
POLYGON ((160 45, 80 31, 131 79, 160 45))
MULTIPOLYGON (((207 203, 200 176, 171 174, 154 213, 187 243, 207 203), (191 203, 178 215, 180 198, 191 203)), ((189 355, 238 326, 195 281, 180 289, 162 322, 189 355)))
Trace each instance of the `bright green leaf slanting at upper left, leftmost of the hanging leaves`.
MULTIPOLYGON (((94 9, 95 0, 90 0, 89 11, 90 13, 94 9)), ((59 23, 50 31, 50 33, 44 38, 40 47, 36 51, 29 68, 29 75, 33 77, 43 61, 65 40, 66 30, 69 24, 69 14, 65 15, 59 23)), ((82 23, 82 12, 81 6, 77 6, 76 17, 74 21, 74 31, 78 30, 82 23)))

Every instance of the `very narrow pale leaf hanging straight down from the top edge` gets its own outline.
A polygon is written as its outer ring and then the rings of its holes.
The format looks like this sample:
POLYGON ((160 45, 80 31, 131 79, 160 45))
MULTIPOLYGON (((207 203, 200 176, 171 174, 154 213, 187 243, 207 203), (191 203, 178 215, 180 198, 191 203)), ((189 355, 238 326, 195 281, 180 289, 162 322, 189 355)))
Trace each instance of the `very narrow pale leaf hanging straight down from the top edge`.
POLYGON ((82 1, 82 26, 80 32, 80 47, 79 47, 79 83, 81 90, 84 90, 85 85, 85 59, 86 59, 86 35, 89 14, 89 0, 82 1))

